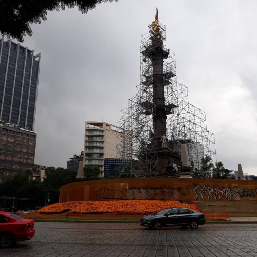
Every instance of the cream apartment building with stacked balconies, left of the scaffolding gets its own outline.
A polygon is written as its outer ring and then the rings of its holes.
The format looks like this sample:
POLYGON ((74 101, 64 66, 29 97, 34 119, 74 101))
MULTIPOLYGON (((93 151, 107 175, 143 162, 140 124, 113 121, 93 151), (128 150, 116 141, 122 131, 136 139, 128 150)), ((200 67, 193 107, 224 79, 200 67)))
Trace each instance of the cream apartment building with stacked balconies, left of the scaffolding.
POLYGON ((98 166, 104 177, 104 159, 116 158, 119 128, 105 122, 86 121, 84 166, 98 166))

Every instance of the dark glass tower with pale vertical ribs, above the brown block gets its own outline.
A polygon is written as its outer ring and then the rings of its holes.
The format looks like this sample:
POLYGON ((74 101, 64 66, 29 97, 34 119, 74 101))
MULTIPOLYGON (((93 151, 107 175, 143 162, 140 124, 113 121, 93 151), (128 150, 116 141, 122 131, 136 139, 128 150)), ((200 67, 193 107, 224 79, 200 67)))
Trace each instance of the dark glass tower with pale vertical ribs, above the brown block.
POLYGON ((0 121, 34 130, 41 53, 0 39, 0 121))

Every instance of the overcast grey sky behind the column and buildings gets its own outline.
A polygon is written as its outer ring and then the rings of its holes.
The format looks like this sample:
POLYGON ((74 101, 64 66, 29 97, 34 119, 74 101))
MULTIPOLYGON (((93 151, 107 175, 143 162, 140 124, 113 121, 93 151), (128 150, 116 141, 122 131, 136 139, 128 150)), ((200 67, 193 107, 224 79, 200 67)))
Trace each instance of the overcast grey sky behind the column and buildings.
POLYGON ((141 35, 156 7, 177 81, 205 111, 217 161, 257 175, 255 0, 119 0, 87 14, 49 12, 22 44, 42 54, 35 164, 66 168, 84 148, 85 121, 117 124, 140 83, 141 35))

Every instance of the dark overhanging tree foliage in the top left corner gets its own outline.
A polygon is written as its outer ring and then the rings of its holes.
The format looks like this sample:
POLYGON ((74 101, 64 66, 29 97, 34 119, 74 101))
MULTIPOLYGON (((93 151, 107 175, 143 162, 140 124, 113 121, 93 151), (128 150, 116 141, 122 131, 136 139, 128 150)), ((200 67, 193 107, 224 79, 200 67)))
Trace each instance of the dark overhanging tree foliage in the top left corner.
POLYGON ((32 35, 29 25, 40 24, 42 20, 45 22, 49 11, 77 6, 85 14, 96 5, 106 2, 112 0, 0 0, 0 32, 23 42, 26 34, 32 35))

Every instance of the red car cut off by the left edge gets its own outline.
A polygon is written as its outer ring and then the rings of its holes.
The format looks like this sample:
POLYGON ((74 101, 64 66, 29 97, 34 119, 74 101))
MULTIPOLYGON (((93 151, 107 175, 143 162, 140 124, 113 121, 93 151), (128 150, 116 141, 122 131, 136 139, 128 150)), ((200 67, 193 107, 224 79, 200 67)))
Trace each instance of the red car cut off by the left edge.
POLYGON ((33 219, 0 211, 0 247, 5 248, 18 241, 30 240, 34 235, 33 219))

